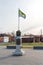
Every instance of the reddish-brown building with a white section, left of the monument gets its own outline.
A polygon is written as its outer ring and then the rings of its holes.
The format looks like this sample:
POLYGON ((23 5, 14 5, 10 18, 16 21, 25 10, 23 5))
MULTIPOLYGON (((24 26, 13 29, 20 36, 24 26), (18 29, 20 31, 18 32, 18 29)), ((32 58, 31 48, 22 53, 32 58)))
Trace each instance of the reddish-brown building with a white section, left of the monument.
POLYGON ((14 36, 10 35, 10 34, 0 34, 0 42, 14 42, 15 38, 14 36))

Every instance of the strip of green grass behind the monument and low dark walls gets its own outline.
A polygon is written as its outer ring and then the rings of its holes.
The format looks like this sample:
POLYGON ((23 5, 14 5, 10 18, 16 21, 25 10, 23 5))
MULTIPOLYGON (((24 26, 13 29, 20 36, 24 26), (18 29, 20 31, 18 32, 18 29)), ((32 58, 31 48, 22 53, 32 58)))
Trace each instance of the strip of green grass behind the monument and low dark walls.
MULTIPOLYGON (((10 43, 0 43, 0 46, 15 46, 15 42, 10 42, 10 43)), ((43 42, 37 42, 37 43, 22 43, 22 46, 26 47, 33 47, 33 46, 43 46, 43 42)))

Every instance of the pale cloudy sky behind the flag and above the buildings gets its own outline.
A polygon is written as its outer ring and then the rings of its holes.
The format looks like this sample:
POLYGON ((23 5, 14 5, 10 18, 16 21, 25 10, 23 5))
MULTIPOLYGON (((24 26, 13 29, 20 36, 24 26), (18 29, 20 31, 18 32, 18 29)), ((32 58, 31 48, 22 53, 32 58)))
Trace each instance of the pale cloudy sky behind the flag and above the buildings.
POLYGON ((26 14, 26 19, 20 17, 22 33, 43 29, 43 0, 0 0, 0 33, 18 30, 18 8, 26 14))

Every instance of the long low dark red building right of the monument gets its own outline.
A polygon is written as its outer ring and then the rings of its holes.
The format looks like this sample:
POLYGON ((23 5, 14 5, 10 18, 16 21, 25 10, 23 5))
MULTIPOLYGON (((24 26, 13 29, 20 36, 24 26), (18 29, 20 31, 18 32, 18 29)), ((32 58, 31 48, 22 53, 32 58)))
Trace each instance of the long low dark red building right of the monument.
POLYGON ((22 42, 40 42, 40 36, 39 35, 25 35, 22 37, 22 42))

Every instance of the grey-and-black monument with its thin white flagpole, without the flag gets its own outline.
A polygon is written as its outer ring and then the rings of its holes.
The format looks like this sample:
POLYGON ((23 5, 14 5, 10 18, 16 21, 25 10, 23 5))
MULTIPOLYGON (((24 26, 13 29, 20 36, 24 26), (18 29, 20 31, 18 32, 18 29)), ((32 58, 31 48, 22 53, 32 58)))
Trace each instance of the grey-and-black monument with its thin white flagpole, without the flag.
POLYGON ((16 31, 16 50, 13 53, 13 55, 16 56, 24 55, 24 51, 21 49, 21 43, 22 43, 22 38, 21 38, 20 17, 19 17, 19 10, 18 10, 18 30, 16 31))

